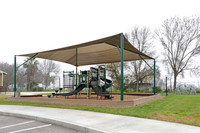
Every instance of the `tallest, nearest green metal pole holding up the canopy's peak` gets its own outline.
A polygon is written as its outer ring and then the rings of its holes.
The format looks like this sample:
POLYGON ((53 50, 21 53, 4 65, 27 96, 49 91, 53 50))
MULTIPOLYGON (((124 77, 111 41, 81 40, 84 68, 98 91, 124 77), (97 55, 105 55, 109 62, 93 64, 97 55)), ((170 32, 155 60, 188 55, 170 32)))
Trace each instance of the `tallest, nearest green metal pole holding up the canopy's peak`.
POLYGON ((124 100, 124 35, 121 33, 121 101, 124 100))

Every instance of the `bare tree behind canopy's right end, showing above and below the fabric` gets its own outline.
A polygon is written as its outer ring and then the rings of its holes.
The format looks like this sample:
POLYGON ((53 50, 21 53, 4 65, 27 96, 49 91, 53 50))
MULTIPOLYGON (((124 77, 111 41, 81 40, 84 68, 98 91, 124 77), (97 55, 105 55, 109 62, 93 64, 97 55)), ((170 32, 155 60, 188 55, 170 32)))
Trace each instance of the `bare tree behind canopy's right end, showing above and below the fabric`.
MULTIPOLYGON (((138 26, 135 26, 131 33, 125 34, 125 36, 129 40, 129 42, 139 51, 149 56, 155 56, 152 44, 153 35, 148 28, 139 28, 138 26)), ((148 61, 148 64, 150 64, 151 66, 153 66, 152 63, 152 61, 148 61)), ((153 75, 153 70, 148 65, 146 65, 142 58, 139 61, 131 62, 130 71, 130 77, 132 78, 132 80, 136 81, 137 92, 139 90, 139 83, 142 83, 143 80, 148 76, 153 75)))

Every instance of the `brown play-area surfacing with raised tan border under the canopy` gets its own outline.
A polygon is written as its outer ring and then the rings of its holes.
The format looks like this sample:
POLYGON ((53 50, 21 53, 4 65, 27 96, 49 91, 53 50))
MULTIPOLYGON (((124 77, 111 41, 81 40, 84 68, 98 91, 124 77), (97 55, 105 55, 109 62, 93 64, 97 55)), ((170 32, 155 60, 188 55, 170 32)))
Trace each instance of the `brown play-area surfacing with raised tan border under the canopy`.
POLYGON ((120 95, 113 95, 114 98, 104 99, 96 95, 91 95, 90 99, 86 95, 77 95, 76 96, 54 96, 48 98, 47 96, 43 97, 9 97, 8 101, 18 101, 18 102, 33 102, 33 103, 46 103, 46 104, 58 104, 66 106, 90 106, 90 107, 131 107, 142 105, 157 99, 161 99, 160 95, 124 95, 124 101, 120 101, 120 95))

